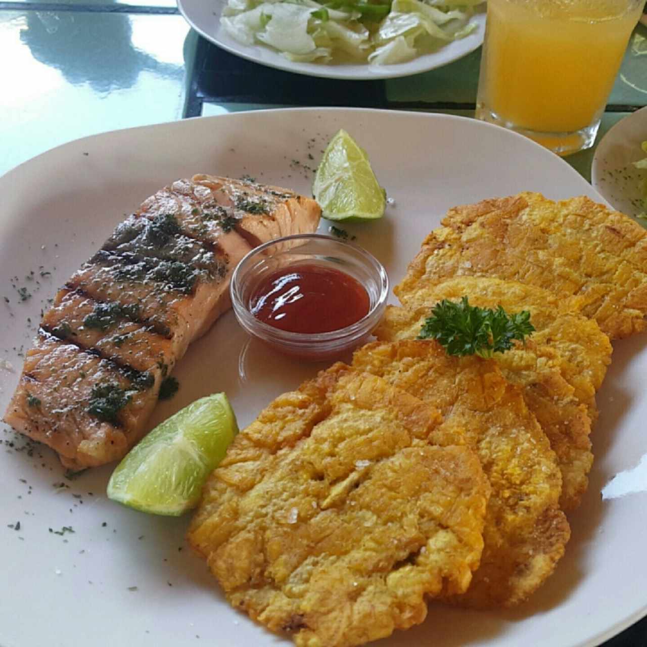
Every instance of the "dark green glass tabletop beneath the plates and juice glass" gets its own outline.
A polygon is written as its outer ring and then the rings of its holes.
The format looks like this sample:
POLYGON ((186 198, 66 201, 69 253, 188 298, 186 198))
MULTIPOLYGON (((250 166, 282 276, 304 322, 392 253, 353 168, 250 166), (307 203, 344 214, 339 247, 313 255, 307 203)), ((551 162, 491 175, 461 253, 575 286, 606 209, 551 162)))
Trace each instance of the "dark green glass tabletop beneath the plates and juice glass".
MULTIPOLYGON (((481 51, 417 76, 338 81, 218 49, 188 27, 174 0, 17 0, 0 2, 0 56, 1 175, 76 138, 192 116, 296 105, 473 116, 481 51)), ((646 104, 647 28, 639 26, 597 141, 646 104)), ((587 180, 594 150, 565 158, 587 180)), ((647 619, 605 643, 642 646, 647 619)))

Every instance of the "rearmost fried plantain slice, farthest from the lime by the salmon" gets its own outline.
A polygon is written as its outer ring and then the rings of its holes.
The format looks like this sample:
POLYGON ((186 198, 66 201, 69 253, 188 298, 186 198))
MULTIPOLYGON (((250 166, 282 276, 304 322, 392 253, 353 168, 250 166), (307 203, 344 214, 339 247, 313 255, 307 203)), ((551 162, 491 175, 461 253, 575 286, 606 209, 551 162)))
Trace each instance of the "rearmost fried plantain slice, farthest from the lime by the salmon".
POLYGON ((426 281, 494 276, 577 296, 611 339, 647 327, 647 232, 580 196, 519 193, 450 209, 394 289, 402 303, 426 281))

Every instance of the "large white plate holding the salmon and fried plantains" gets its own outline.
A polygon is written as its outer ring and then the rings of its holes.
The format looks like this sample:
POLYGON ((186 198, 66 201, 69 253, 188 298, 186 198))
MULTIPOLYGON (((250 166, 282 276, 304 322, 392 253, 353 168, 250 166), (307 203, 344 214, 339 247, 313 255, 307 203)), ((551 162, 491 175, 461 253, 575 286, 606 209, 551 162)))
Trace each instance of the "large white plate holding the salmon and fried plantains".
MULTIPOLYGON (((316 164, 325 142, 340 127, 367 149, 395 201, 381 221, 348 227, 358 243, 382 260, 393 281, 402 277, 422 237, 452 205, 521 190, 537 190, 553 199, 582 193, 598 197, 568 164, 530 140, 444 115, 264 111, 72 142, 0 178, 0 276, 5 286, 0 296, 6 294, 11 301, 7 307, 0 299, 0 356, 7 349, 6 358, 16 368, 15 373, 0 369, 0 408, 4 410, 21 367, 12 348, 28 346, 34 322, 54 288, 142 199, 195 172, 233 177, 247 173, 308 193, 311 180, 303 164, 316 164), (41 278, 40 266, 53 275, 41 278), (31 270, 41 285, 25 279, 31 270), (27 286, 33 293, 24 303, 16 303, 17 292, 8 282, 12 276, 18 288, 27 286)), ((379 644, 593 646, 647 613, 647 498, 644 493, 600 498, 611 477, 631 470, 647 453, 645 341, 616 344, 598 400, 591 487, 571 516, 573 538, 555 575, 522 609, 474 613, 432 605, 422 626, 379 644)), ((245 425, 273 397, 314 375, 316 368, 248 344, 233 314, 227 313, 177 366, 181 389, 159 405, 151 422, 206 393, 224 390, 245 425)), ((10 441, 13 435, 1 437, 10 441)), ((111 466, 90 470, 67 482, 69 489, 56 492, 52 484, 63 480, 63 470, 49 450, 39 448, 32 456, 15 449, 0 453, 3 647, 290 644, 226 604, 204 562, 186 549, 187 518, 155 518, 108 501, 104 492, 110 472, 111 466), (16 521, 19 531, 7 527, 16 521), (61 531, 63 526, 71 526, 74 533, 60 536, 48 530, 61 531)), ((622 479, 616 483, 622 485, 622 479)))

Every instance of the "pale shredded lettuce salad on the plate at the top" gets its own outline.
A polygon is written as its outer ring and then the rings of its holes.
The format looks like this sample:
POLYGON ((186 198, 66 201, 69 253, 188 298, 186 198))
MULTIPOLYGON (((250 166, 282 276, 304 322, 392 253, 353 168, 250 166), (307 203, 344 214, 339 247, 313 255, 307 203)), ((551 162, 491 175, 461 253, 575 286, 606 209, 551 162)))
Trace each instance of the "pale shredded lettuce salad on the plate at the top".
POLYGON ((221 25, 291 61, 391 65, 471 34, 483 0, 228 0, 221 25))

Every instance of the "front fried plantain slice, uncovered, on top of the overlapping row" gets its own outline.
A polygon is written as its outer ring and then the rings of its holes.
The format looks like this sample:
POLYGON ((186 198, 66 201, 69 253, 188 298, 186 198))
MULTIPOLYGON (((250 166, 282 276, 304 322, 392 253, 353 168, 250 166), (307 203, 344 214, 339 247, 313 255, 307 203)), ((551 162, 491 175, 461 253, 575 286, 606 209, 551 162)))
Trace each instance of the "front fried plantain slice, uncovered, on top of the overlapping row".
MULTIPOLYGON (((335 364, 242 430, 188 540, 230 603, 301 647, 424 620, 479 564, 489 485, 430 404, 335 364)), ((461 434, 454 436, 461 441, 461 434)))

